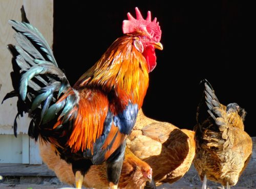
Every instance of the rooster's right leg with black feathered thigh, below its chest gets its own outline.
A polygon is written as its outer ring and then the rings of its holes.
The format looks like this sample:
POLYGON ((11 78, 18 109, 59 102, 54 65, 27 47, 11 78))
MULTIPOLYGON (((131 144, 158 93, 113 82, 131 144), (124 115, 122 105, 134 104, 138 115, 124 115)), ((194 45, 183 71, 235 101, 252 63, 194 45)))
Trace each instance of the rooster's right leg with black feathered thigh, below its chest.
POLYGON ((121 174, 126 141, 106 160, 106 176, 111 189, 116 189, 121 174))

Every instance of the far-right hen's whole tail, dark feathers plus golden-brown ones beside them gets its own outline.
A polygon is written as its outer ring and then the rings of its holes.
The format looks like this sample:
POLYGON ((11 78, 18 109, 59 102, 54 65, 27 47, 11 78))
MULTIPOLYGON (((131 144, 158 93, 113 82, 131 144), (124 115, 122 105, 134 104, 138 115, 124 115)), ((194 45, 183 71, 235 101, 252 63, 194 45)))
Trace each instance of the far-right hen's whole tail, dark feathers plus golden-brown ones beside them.
POLYGON ((205 89, 197 109, 196 135, 208 141, 209 146, 212 145, 215 148, 218 147, 219 149, 225 150, 234 141, 232 134, 233 127, 229 123, 226 106, 219 102, 214 90, 206 79, 202 83, 204 83, 205 89), (206 132, 203 134, 203 131, 206 132))

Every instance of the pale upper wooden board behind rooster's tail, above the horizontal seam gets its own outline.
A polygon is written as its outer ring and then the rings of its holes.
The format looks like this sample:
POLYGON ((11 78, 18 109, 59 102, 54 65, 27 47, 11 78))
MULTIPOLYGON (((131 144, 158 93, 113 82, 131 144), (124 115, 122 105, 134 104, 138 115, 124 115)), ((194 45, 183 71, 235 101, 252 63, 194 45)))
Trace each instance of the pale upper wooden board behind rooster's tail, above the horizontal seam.
MULTIPOLYGON (((13 90, 10 72, 12 71, 11 54, 6 48, 9 43, 15 44, 14 31, 8 20, 21 20, 20 8, 24 5, 27 17, 46 38, 50 46, 53 44, 53 0, 1 0, 0 3, 0 100, 13 90)), ((13 134, 13 120, 17 113, 17 98, 6 100, 0 105, 0 134, 13 134)), ((27 133, 29 119, 18 123, 19 133, 27 133)))

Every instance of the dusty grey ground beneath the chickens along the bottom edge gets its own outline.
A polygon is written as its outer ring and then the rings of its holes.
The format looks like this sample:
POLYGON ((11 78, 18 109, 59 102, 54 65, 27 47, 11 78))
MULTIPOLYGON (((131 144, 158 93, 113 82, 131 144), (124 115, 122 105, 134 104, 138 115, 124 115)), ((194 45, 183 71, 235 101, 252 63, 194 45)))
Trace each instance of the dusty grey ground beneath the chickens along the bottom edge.
MULTIPOLYGON (((249 165, 248 165, 249 166, 249 165)), ((20 177, 20 178, 4 178, 2 183, 0 183, 0 188, 18 188, 18 189, 50 189, 50 188, 61 188, 61 187, 73 187, 67 184, 62 184, 56 177, 20 177)), ((198 177, 198 174, 194 168, 191 166, 190 170, 185 174, 183 178, 173 184, 163 184, 158 186, 158 189, 167 189, 167 188, 201 188, 202 182, 198 177)), ((220 184, 208 181, 207 187, 211 188, 221 188, 220 184)), ((256 174, 248 175, 244 172, 239 182, 236 186, 232 188, 256 188, 256 174)))

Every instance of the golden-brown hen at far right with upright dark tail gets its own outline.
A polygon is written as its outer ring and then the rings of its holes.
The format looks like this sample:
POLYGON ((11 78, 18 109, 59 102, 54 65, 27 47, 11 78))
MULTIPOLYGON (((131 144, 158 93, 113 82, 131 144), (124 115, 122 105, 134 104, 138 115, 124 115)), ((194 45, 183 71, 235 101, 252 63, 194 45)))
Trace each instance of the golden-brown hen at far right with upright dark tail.
POLYGON ((197 110, 195 126, 198 174, 223 186, 236 185, 252 153, 252 140, 244 131, 245 110, 237 103, 222 105, 207 80, 197 110))

